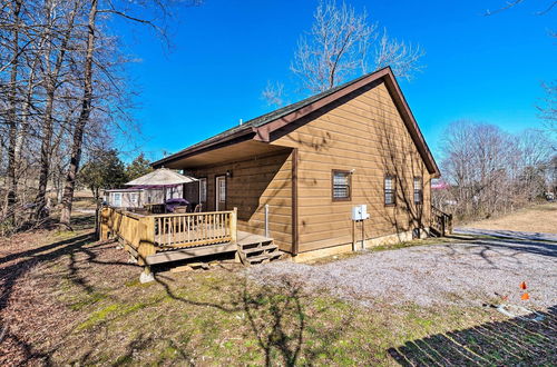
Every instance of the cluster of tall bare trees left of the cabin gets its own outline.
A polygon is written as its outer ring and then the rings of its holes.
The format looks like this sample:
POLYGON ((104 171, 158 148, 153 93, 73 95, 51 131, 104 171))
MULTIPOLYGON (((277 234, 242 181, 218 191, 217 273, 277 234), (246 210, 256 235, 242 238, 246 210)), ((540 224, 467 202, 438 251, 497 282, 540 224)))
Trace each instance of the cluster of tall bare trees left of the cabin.
POLYGON ((110 148, 114 132, 131 130, 127 112, 134 89, 126 83, 127 59, 111 19, 147 26, 167 42, 168 10, 199 3, 14 0, 0 4, 2 230, 38 222, 53 199, 52 189, 63 201, 61 221, 69 225, 81 156, 110 148))

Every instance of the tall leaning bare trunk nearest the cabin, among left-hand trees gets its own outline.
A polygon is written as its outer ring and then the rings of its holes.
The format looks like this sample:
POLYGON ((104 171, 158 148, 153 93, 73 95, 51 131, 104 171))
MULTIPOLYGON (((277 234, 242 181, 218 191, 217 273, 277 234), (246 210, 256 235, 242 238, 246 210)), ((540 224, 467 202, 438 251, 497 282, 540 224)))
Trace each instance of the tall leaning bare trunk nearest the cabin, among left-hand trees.
POLYGON ((87 37, 87 54, 85 58, 85 72, 84 72, 84 97, 81 101, 81 111, 79 119, 74 131, 74 141, 71 146, 71 158, 68 167, 68 175, 66 176, 66 185, 62 195, 62 210, 60 214, 60 224, 70 226, 71 204, 74 201, 74 190, 76 188, 76 176, 79 170, 79 162, 81 160, 81 149, 84 142, 84 132, 89 116, 91 113, 92 102, 92 57, 95 50, 95 21, 97 18, 98 0, 91 0, 91 8, 89 10, 88 19, 88 37, 87 37))

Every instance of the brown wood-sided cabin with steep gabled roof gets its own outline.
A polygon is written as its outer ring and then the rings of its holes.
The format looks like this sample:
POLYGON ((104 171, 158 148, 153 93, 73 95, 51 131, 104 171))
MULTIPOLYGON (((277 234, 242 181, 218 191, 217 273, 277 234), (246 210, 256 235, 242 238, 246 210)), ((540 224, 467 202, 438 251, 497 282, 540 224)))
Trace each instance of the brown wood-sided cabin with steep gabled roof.
POLYGON ((422 236, 439 169, 390 68, 238 125, 153 163, 199 179, 204 211, 301 259, 422 236), (370 215, 352 221, 355 206, 370 215))

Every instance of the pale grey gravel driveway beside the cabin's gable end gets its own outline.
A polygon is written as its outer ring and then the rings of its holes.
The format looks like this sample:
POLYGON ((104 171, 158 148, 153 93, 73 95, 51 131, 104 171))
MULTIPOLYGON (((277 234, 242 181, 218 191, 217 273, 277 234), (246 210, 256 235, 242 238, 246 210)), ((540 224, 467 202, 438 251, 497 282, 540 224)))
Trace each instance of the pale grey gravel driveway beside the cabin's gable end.
POLYGON ((289 279, 364 306, 477 306, 501 296, 524 305, 519 284, 526 281, 530 295, 527 305, 547 308, 557 304, 557 241, 524 236, 462 238, 458 242, 364 252, 323 265, 276 261, 252 267, 247 274, 258 282, 280 285, 289 279))

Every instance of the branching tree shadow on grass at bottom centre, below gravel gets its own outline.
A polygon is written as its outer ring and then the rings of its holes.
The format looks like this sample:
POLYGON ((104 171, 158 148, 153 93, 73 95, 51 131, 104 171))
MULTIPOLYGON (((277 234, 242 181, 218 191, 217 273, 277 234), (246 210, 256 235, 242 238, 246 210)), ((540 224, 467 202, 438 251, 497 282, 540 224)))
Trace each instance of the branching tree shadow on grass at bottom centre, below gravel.
MULTIPOLYGON (((223 269, 235 272, 234 269, 223 269)), ((231 274, 231 277, 240 278, 231 274)), ((303 291, 301 285, 287 278, 276 279, 273 286, 256 285, 243 277, 232 288, 223 289, 219 285, 212 287, 215 294, 227 295, 228 299, 221 302, 193 300, 173 291, 169 281, 164 275, 156 275, 155 281, 165 288, 172 299, 197 307, 215 308, 226 314, 245 319, 248 334, 245 337, 255 337, 260 350, 264 355, 264 365, 295 366, 303 356, 304 364, 329 356, 331 345, 342 337, 352 323, 351 315, 342 315, 339 323, 322 329, 307 330, 307 309, 314 300, 314 295, 303 291), (311 337, 310 337, 311 334, 311 337), (311 338, 311 346, 306 340, 311 338)), ((240 279, 238 279, 240 280, 240 279)), ((226 298, 226 297, 219 297, 226 298)), ((330 311, 322 307, 312 313, 312 318, 330 311)))

